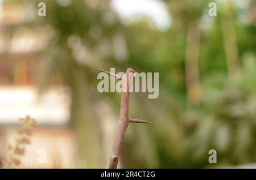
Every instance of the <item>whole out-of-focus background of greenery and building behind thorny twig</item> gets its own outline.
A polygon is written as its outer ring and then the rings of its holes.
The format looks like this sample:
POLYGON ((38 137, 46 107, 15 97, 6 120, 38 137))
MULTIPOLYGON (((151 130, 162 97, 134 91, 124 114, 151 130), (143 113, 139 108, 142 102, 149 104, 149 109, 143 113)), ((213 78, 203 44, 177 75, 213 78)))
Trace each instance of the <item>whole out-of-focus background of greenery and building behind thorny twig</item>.
POLYGON ((0 158, 30 114, 20 168, 108 167, 121 95, 97 91, 97 69, 131 67, 159 72, 159 97, 131 94, 130 117, 154 124, 129 125, 120 168, 252 167, 255 24, 250 0, 1 0, 0 158))

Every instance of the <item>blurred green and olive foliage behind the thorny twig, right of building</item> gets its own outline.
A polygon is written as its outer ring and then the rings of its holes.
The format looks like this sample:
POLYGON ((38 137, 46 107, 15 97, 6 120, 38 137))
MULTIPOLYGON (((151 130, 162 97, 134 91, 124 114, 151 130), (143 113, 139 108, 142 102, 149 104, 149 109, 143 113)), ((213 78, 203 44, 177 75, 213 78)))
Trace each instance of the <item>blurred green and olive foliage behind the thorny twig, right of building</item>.
POLYGON ((98 104, 106 102, 118 118, 120 97, 98 93, 96 77, 97 68, 110 67, 159 72, 157 99, 142 93, 131 95, 130 116, 154 125, 129 126, 122 148, 124 168, 206 168, 256 161, 255 22, 241 18, 255 2, 250 1, 243 10, 234 3, 219 3, 217 16, 209 17, 209 1, 164 1, 172 16, 166 31, 152 27, 146 18, 123 25, 109 1, 76 0, 67 7, 57 1, 43 2, 47 16, 34 21, 49 24, 55 36, 45 51, 39 84, 47 87, 57 76, 71 88, 71 127, 79 145, 78 167, 104 168, 107 163, 103 156, 110 152, 102 153, 98 104), (232 9, 228 15, 227 9, 232 9), (204 16, 208 20, 203 21, 204 16), (230 77, 227 67, 225 43, 229 42, 225 42, 221 23, 225 17, 234 23, 240 78, 230 77), (197 105, 189 101, 186 87, 185 52, 191 22, 200 29, 202 95, 197 105), (210 23, 209 27, 201 28, 205 23, 210 23), (122 49, 115 52, 115 40, 125 43, 127 53, 122 49), (81 47, 84 59, 77 56, 81 47), (209 164, 209 149, 216 149, 217 164, 209 164))

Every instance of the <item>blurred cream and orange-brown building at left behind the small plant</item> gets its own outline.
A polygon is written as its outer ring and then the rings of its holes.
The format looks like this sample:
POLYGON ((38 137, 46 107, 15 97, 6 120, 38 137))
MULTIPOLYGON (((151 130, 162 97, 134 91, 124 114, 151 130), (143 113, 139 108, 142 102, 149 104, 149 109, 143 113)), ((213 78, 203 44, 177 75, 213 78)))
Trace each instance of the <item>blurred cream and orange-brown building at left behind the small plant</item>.
POLYGON ((49 87, 38 96, 35 87, 40 52, 51 33, 48 27, 30 26, 33 13, 24 14, 23 8, 0 3, 0 158, 7 156, 7 144, 15 140, 19 118, 30 115, 38 124, 32 129, 20 168, 72 168, 76 144, 67 127, 68 89, 49 87), (38 161, 42 150, 45 163, 38 161))

